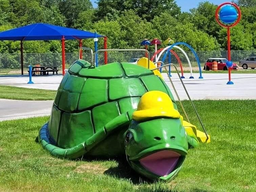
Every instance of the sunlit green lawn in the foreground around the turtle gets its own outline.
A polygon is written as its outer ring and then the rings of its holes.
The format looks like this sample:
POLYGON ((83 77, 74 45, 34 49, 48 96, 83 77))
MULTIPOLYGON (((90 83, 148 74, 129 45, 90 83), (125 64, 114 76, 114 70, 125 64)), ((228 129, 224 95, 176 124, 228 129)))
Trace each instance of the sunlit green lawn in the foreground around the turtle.
MULTIPOLYGON (((52 157, 35 142, 48 117, 0 122, 0 191, 255 192, 256 100, 195 105, 211 143, 190 149, 179 175, 169 183, 141 178, 123 159, 52 157)), ((198 126, 189 102, 184 106, 198 126)))

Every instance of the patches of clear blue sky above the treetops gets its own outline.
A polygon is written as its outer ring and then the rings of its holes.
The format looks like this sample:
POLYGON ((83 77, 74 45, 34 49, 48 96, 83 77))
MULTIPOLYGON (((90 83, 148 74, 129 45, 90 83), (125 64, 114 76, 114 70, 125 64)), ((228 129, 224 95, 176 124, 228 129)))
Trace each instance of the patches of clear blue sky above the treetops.
MULTIPOLYGON (((90 0, 93 7, 97 7, 95 3, 96 0, 90 0)), ((189 9, 197 7, 199 2, 204 2, 205 0, 176 0, 178 6, 181 7, 182 12, 189 12, 189 9)), ((208 0, 211 3, 219 5, 224 2, 231 2, 229 0, 208 0)))

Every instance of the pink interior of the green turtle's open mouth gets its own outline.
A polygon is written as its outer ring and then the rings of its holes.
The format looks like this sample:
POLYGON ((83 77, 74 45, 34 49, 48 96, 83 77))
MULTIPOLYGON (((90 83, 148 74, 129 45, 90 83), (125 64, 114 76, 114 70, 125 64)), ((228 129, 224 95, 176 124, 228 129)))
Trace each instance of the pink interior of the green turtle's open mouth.
POLYGON ((175 151, 163 150, 140 159, 140 163, 150 172, 166 176, 173 171, 178 163, 180 154, 175 151))

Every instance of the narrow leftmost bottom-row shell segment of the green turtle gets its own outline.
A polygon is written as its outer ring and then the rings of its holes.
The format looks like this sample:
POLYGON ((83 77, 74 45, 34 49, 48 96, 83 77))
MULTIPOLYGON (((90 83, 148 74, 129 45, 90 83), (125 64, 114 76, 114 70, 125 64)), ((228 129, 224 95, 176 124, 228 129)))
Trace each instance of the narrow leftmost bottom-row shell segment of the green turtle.
POLYGON ((51 120, 49 126, 49 134, 51 139, 56 143, 58 141, 59 124, 61 119, 61 111, 57 107, 52 107, 51 120))

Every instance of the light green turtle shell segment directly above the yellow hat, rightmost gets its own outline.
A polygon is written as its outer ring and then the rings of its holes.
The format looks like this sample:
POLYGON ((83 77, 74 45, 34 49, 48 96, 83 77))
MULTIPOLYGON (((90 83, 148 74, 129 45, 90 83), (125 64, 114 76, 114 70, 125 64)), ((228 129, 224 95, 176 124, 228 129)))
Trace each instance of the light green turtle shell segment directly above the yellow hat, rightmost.
POLYGON ((140 78, 144 85, 146 86, 148 91, 163 91, 167 93, 172 101, 175 101, 173 98, 173 95, 166 86, 163 84, 163 82, 160 80, 161 78, 156 75, 150 75, 150 76, 143 76, 140 78))

